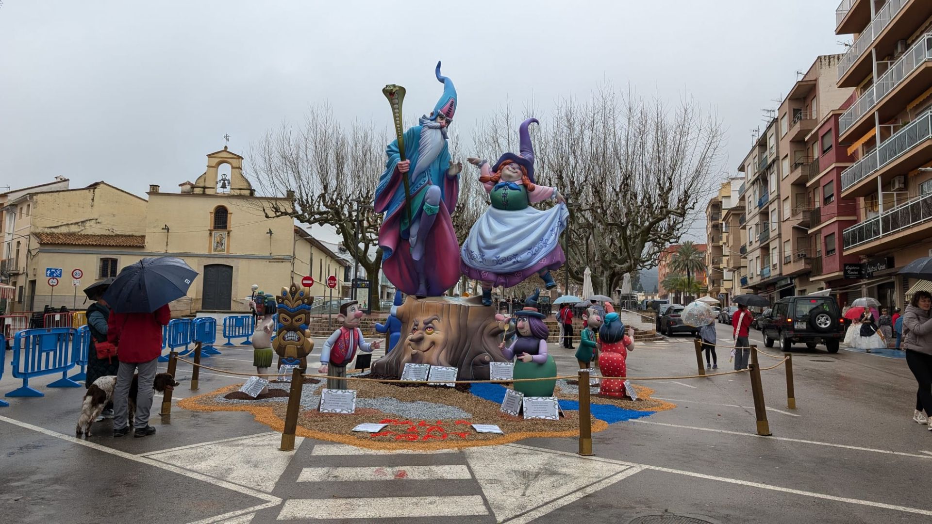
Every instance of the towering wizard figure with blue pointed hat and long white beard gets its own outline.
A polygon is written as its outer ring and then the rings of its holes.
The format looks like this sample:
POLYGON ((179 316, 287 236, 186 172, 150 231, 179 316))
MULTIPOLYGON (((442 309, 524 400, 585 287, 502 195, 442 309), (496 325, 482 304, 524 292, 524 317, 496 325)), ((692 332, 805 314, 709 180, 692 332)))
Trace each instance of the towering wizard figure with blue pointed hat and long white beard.
POLYGON ((430 115, 404 132, 404 161, 398 140, 385 150, 385 172, 376 187, 382 269, 405 295, 440 296, 459 281, 459 243, 450 222, 457 206, 461 163, 453 163, 446 128, 453 119, 457 91, 440 75, 444 94, 430 115), (405 186, 404 178, 407 178, 405 186))

